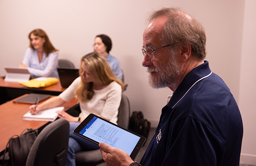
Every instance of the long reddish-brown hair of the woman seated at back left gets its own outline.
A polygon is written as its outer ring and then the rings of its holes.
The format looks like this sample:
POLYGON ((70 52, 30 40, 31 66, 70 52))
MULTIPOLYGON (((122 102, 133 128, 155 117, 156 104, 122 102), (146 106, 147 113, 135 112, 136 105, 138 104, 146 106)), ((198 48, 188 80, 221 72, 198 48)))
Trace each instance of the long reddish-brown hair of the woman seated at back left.
MULTIPOLYGON (((47 34, 45 33, 45 31, 43 31, 42 29, 34 29, 32 30, 29 34, 28 34, 28 39, 30 39, 30 35, 34 34, 35 36, 38 37, 42 37, 45 38, 45 43, 43 45, 44 48, 44 52, 46 54, 46 56, 48 56, 51 52, 55 52, 58 51, 57 49, 54 48, 54 46, 52 45, 49 37, 47 36, 47 34)), ((30 39, 31 40, 31 39, 30 39)), ((34 49, 31 41, 30 41, 30 48, 34 49)))

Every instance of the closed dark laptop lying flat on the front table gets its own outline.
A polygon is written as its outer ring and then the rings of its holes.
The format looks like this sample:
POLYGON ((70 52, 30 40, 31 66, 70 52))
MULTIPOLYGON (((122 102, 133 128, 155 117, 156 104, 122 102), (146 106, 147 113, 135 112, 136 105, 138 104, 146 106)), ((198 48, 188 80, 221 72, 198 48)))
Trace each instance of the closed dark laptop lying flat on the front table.
POLYGON ((39 98, 38 102, 45 100, 47 98, 50 98, 51 95, 47 94, 38 94, 38 93, 30 93, 27 96, 24 96, 23 98, 14 100, 14 103, 27 103, 27 104, 35 104, 37 97, 39 98))

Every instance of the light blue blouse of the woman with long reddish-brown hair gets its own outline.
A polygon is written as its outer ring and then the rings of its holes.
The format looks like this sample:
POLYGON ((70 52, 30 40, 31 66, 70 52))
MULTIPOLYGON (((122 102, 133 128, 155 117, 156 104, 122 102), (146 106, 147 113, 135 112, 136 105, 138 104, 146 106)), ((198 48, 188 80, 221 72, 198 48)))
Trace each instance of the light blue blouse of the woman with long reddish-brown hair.
POLYGON ((47 57, 43 54, 42 61, 39 62, 38 54, 35 49, 27 48, 22 63, 27 66, 33 78, 37 77, 55 77, 59 78, 57 72, 59 51, 50 53, 47 57))

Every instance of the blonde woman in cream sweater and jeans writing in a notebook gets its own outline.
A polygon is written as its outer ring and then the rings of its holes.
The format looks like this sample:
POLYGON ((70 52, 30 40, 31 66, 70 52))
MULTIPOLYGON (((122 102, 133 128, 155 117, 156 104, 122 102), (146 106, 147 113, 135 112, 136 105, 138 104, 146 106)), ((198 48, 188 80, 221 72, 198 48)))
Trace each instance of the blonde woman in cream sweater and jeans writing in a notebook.
POLYGON ((97 144, 89 142, 72 131, 90 113, 103 117, 117 124, 118 108, 121 102, 123 84, 113 73, 106 59, 98 52, 92 52, 82 57, 80 77, 59 96, 46 102, 30 106, 30 112, 37 112, 57 107, 76 97, 80 103, 79 117, 73 117, 65 111, 57 111, 60 118, 70 122, 70 139, 67 156, 67 166, 75 166, 75 153, 84 149, 99 149, 97 144))

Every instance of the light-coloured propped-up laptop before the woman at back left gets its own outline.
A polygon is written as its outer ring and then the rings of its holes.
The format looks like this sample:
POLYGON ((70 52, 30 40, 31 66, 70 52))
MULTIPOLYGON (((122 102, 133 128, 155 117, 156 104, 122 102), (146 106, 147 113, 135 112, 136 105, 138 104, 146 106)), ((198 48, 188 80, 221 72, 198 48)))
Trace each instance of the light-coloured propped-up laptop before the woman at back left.
POLYGON ((9 82, 27 82, 30 80, 30 72, 27 68, 19 68, 19 67, 6 67, 4 66, 6 71, 5 81, 9 82))

